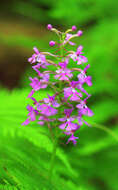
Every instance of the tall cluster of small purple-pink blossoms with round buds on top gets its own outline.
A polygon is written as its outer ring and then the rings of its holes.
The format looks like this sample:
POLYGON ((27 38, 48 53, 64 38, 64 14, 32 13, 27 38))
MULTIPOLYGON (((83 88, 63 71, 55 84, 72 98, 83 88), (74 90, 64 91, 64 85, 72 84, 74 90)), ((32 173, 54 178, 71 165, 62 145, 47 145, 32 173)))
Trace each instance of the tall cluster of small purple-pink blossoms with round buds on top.
POLYGON ((49 45, 57 46, 60 54, 39 52, 34 47, 34 54, 28 59, 37 73, 37 77, 29 78, 32 90, 28 98, 33 101, 33 106, 27 106, 28 118, 22 125, 37 120, 39 125, 50 125, 50 128, 53 128, 56 123, 55 127, 69 136, 67 143, 72 141, 76 144, 78 137, 75 137, 75 132, 83 123, 89 125, 83 116, 93 115, 87 106, 87 100, 91 95, 83 87, 91 86, 92 82, 91 76, 87 76, 90 65, 85 65, 88 60, 83 55, 83 46, 79 45, 75 51, 68 51, 65 47, 69 44, 75 46, 76 44, 71 40, 80 37, 83 32, 79 30, 76 34, 72 34, 76 31, 76 26, 72 26, 66 32, 58 31, 51 24, 47 25, 47 29, 59 36, 59 43, 50 41, 49 45), (49 88, 53 95, 47 94, 47 98, 42 100, 33 97, 36 91, 49 88))

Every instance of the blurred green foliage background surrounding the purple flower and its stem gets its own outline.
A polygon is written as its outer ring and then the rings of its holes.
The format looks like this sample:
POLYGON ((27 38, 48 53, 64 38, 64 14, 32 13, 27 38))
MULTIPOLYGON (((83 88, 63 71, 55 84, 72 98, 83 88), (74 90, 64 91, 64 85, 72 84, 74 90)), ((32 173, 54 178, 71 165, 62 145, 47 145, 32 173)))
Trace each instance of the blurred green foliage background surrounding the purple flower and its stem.
POLYGON ((0 190, 118 190, 117 11, 117 0, 0 1, 0 190), (33 76, 27 59, 34 46, 49 51, 49 40, 56 39, 48 23, 84 31, 76 42, 91 65, 93 86, 86 90, 94 112, 86 118, 93 127, 82 127, 76 147, 62 139, 52 183, 46 177, 48 132, 36 124, 21 126, 33 76))

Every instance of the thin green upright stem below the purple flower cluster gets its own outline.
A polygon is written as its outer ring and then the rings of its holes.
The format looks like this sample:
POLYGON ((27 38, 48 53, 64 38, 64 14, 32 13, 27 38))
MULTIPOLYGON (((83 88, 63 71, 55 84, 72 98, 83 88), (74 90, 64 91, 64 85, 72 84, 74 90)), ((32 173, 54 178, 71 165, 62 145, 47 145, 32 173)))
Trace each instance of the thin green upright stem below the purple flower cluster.
POLYGON ((53 152, 52 152, 52 157, 51 157, 51 162, 50 162, 50 168, 49 168, 49 180, 51 180, 52 175, 53 175, 54 162, 55 162, 55 158, 56 158, 57 144, 58 144, 58 139, 55 138, 55 141, 54 141, 54 144, 53 144, 53 152))

